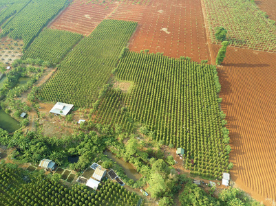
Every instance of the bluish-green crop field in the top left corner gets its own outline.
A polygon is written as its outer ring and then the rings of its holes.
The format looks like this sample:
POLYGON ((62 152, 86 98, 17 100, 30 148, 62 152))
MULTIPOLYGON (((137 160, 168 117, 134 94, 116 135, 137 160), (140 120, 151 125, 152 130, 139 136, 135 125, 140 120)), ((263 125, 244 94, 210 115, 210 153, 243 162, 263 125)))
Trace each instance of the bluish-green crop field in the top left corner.
POLYGON ((39 32, 65 6, 66 0, 32 0, 18 14, 3 23, 1 37, 22 38, 28 48, 39 32))

